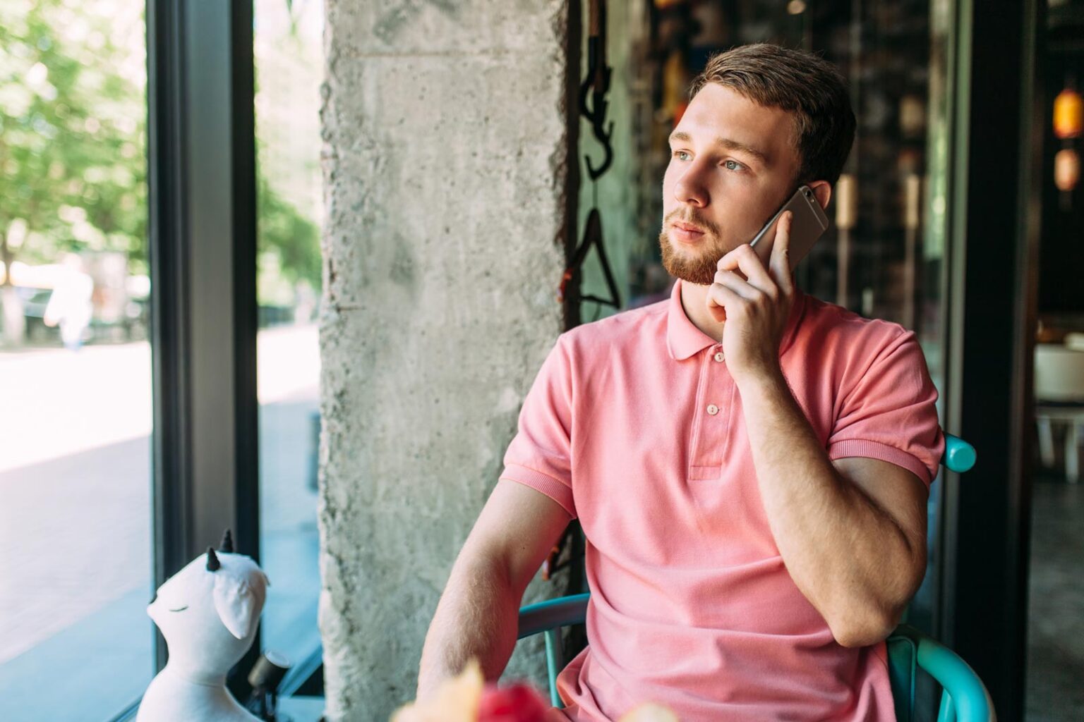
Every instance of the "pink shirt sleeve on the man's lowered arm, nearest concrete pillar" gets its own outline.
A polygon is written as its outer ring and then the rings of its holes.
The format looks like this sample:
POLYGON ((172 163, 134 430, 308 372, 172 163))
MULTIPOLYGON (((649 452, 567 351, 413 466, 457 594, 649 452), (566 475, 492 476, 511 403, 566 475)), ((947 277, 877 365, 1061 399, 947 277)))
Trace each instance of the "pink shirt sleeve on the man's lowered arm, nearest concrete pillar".
POLYGON ((572 368, 563 334, 524 399, 501 478, 541 491, 576 518, 571 429, 572 368))

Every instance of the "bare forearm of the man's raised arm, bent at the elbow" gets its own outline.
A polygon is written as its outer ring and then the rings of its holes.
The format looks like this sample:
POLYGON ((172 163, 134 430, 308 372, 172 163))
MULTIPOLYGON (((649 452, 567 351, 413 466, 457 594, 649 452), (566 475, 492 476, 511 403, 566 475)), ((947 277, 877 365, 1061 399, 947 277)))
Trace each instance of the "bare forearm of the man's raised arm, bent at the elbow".
POLYGON ((908 537, 839 474, 782 372, 738 388, 764 511, 795 583, 842 643, 850 631, 840 630, 890 626, 914 591, 900 574, 916 553, 908 537))

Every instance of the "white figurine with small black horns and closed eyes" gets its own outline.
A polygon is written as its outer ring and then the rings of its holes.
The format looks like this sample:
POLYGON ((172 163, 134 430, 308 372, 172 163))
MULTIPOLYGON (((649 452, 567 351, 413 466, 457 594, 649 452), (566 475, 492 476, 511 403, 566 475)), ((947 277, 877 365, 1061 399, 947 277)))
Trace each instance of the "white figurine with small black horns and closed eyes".
POLYGON ((259 720, 225 688, 225 674, 253 644, 270 581, 250 557, 233 553, 227 529, 166 580, 146 613, 162 630, 169 661, 143 695, 137 722, 259 720))

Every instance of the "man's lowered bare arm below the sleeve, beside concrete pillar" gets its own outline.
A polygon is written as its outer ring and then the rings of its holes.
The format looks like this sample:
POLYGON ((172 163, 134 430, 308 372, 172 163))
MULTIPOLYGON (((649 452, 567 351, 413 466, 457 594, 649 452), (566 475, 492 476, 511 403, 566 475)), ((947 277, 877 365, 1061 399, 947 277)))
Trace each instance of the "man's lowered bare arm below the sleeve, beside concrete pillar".
POLYGON ((462 671, 470 657, 487 680, 504 671, 516 644, 519 603, 571 517, 550 497, 498 482, 460 551, 422 649, 417 698, 462 671))

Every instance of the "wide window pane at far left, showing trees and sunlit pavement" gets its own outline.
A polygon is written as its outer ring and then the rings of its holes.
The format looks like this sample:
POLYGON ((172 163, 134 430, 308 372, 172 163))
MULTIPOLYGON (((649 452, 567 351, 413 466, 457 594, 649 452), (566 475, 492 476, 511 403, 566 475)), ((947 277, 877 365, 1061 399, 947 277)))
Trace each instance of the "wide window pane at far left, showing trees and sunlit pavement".
POLYGON ((153 677, 144 38, 138 0, 0 3, 8 722, 108 719, 153 677))

